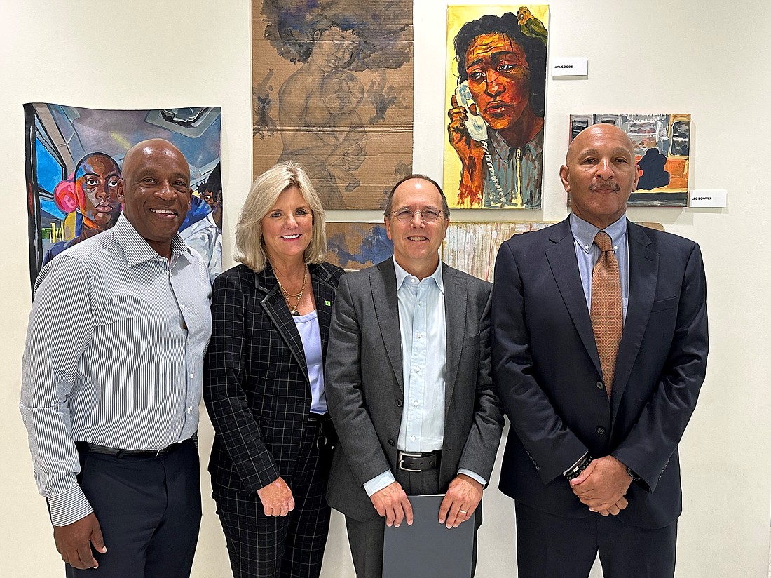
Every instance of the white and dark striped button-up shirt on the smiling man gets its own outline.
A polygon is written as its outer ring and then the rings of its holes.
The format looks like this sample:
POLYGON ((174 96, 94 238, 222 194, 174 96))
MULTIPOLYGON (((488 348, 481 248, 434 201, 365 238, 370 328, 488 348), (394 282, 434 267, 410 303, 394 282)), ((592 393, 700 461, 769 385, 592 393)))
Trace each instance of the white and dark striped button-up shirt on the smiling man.
POLYGON ((198 428, 211 288, 200 255, 179 235, 171 248, 169 261, 121 215, 35 283, 20 407, 55 526, 93 511, 76 441, 160 449, 198 428))

